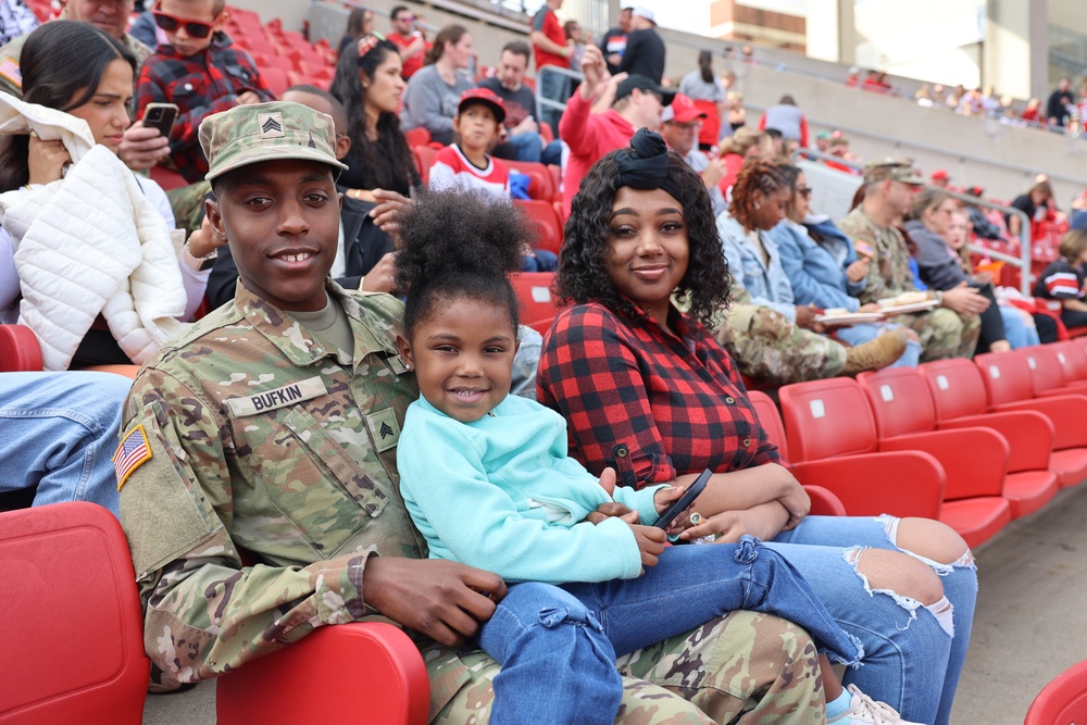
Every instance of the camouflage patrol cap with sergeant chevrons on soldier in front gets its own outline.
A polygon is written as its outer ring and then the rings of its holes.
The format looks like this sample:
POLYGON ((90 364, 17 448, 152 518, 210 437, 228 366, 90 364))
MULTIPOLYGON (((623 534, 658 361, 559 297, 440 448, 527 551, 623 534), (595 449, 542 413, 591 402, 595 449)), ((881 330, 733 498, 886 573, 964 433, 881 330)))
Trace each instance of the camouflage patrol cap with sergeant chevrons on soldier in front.
POLYGON ((302 159, 347 168, 336 159, 332 117, 284 101, 238 105, 200 124, 200 147, 208 157, 209 182, 240 166, 273 159, 302 159))

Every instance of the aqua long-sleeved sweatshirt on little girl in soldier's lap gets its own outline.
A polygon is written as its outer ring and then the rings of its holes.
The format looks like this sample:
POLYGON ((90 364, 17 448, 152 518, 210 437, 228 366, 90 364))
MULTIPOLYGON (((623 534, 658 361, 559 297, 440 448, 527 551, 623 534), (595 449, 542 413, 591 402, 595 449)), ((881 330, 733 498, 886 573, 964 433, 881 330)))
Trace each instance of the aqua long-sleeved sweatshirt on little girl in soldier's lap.
MULTIPOLYGON (((432 559, 459 561, 507 582, 607 582, 641 573, 623 521, 585 516, 611 497, 566 455, 566 422, 536 401, 508 396, 461 423, 420 398, 397 447, 400 492, 432 559)), ((615 487, 616 501, 657 521, 662 488, 615 487)))

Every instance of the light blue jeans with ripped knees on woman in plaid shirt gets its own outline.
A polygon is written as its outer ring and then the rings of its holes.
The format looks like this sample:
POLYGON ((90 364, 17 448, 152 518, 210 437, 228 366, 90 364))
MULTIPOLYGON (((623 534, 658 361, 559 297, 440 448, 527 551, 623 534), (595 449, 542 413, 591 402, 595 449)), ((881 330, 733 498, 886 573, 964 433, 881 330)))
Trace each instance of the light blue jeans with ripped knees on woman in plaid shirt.
POLYGON ((765 546, 788 559, 838 625, 860 639, 864 658, 860 668, 847 671, 846 684, 855 684, 905 720, 946 725, 970 645, 977 572, 969 553, 954 564, 941 564, 899 549, 898 521, 809 516, 765 546), (952 607, 950 621, 934 613, 935 607, 871 590, 855 568, 855 557, 865 548, 904 551, 929 565, 952 607))

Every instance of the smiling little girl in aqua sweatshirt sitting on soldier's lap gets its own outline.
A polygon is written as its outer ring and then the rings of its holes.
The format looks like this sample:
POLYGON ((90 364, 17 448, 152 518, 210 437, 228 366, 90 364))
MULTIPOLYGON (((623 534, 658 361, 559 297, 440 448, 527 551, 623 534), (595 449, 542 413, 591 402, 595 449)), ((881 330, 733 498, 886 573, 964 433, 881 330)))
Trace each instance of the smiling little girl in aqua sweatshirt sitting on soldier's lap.
MULTIPOLYGON (((611 723, 617 654, 735 609, 788 618, 857 663, 855 645, 782 557, 751 537, 666 546, 652 524, 682 489, 615 487, 611 470, 598 480, 566 455, 560 415, 509 395, 517 301, 505 275, 529 234, 511 207, 430 192, 400 229, 398 347, 421 392, 398 446, 401 492, 432 558, 515 584, 479 635, 502 664, 492 722, 611 723)), ((841 690, 825 657, 821 665, 846 712, 863 696, 841 690)))

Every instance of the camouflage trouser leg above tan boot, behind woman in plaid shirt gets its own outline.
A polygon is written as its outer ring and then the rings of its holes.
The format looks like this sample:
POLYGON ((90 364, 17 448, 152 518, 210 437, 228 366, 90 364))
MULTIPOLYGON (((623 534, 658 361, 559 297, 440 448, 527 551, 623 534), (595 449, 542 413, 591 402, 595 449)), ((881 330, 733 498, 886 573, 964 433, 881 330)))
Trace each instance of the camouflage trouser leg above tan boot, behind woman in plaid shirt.
POLYGON ((740 373, 761 383, 817 380, 839 375, 846 366, 845 346, 761 304, 734 302, 716 337, 740 373))

